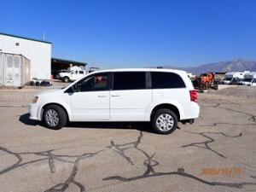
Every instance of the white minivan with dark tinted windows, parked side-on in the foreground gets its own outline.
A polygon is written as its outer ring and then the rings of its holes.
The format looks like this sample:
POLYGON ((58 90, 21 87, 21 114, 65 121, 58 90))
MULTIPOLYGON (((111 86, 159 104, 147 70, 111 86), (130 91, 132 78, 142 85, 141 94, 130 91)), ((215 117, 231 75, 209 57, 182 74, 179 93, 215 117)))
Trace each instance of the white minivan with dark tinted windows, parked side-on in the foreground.
POLYGON ((178 121, 193 123, 199 112, 185 72, 154 68, 89 73, 66 88, 38 94, 30 105, 30 119, 55 130, 68 121, 148 121, 154 131, 168 134, 178 121))

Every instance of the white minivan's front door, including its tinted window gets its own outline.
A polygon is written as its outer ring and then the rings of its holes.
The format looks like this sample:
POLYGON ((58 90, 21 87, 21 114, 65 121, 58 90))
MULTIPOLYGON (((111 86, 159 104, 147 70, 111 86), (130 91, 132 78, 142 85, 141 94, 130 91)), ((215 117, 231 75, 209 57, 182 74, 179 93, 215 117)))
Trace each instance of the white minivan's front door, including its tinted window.
POLYGON ((70 97, 75 121, 108 120, 109 74, 97 73, 81 79, 70 97))

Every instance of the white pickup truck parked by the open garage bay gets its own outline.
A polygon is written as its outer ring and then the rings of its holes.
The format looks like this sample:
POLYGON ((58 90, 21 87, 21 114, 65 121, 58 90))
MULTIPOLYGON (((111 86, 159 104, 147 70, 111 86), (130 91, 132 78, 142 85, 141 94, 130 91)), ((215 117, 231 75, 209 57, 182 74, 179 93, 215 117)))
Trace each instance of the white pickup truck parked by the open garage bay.
POLYGON ((67 72, 59 73, 59 79, 63 82, 76 81, 80 78, 83 78, 86 75, 86 72, 80 67, 69 67, 67 72))

